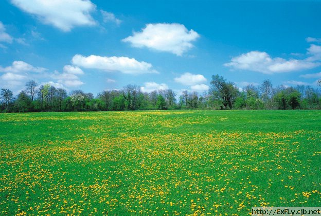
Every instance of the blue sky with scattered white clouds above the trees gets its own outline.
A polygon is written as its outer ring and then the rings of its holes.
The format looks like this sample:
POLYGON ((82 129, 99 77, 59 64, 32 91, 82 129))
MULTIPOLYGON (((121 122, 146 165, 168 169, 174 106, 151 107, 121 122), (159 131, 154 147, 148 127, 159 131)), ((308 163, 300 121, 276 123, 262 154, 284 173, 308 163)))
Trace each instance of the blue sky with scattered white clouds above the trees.
POLYGON ((320 11, 321 1, 3 0, 0 88, 179 95, 207 91, 216 74, 240 88, 317 87, 320 11))

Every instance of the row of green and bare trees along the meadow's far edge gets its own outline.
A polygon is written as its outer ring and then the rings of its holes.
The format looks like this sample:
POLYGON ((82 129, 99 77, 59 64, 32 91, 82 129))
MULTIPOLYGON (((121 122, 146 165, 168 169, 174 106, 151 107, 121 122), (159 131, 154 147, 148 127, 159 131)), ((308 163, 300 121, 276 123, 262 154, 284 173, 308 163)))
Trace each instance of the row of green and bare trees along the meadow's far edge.
MULTIPOLYGON (((318 81, 321 86, 321 81, 318 81)), ((134 111, 134 110, 290 110, 320 109, 321 92, 311 86, 274 87, 270 80, 261 85, 249 84, 239 89, 222 76, 213 75, 210 89, 202 94, 183 91, 176 95, 172 89, 142 92, 137 85, 126 85, 121 90, 92 93, 75 90, 69 94, 50 84, 39 85, 34 80, 14 96, 1 88, 0 112, 68 112, 68 111, 134 111)))

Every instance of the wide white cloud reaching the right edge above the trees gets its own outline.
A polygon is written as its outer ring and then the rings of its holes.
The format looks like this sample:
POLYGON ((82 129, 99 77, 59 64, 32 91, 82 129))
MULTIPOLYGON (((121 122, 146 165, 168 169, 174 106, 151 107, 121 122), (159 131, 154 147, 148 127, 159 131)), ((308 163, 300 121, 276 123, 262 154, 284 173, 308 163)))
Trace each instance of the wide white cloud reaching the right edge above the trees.
POLYGON ((307 50, 309 57, 302 60, 272 58, 266 52, 250 51, 232 58, 224 66, 233 69, 257 71, 263 74, 274 74, 311 69, 321 65, 321 47, 312 44, 307 50))

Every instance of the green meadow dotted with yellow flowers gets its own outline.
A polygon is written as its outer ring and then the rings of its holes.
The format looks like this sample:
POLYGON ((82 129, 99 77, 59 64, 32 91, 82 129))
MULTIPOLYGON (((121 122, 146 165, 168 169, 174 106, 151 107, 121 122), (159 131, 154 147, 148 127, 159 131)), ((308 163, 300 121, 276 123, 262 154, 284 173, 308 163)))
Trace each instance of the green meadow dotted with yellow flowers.
POLYGON ((0 214, 321 206, 320 111, 0 114, 0 214))

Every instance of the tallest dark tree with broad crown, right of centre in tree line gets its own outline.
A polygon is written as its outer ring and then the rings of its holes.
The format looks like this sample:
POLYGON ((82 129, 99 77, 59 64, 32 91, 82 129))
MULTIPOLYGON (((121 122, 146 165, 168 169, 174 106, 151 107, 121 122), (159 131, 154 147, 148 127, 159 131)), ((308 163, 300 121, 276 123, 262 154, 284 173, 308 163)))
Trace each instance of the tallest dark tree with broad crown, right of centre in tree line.
POLYGON ((213 75, 211 84, 212 94, 222 100, 224 109, 233 107, 233 103, 238 94, 238 89, 235 87, 233 82, 227 82, 222 76, 213 75))

